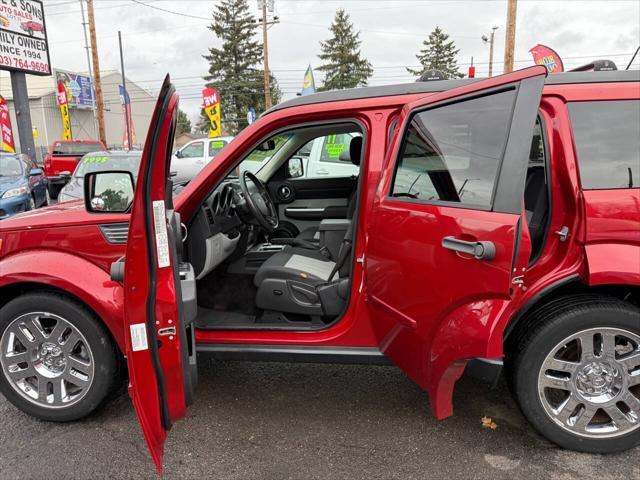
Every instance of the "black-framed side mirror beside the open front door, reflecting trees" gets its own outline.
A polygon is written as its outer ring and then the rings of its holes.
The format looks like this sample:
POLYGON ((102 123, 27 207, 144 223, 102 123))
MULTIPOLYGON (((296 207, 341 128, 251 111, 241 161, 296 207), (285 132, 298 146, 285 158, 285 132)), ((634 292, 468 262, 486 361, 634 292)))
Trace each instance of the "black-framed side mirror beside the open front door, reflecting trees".
POLYGON ((127 171, 91 172, 84 177, 84 206, 91 213, 124 213, 133 201, 133 175, 127 171))

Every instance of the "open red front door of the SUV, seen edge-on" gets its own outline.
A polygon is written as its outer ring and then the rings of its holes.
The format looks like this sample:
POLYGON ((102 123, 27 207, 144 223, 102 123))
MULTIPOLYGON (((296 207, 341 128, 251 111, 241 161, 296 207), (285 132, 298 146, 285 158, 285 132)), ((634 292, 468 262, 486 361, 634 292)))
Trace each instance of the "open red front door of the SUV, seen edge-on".
POLYGON ((166 432, 185 416, 195 383, 195 279, 181 263, 169 173, 177 112, 167 76, 142 154, 124 260, 129 394, 158 472, 166 432))

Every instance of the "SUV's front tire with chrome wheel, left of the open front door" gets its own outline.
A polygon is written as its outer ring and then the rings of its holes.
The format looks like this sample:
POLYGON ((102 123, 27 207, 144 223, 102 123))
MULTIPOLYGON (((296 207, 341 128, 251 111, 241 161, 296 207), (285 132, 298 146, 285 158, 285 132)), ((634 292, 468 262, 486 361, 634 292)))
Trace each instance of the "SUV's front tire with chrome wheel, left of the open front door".
POLYGON ((0 392, 42 420, 93 412, 117 379, 117 350, 100 321, 56 293, 29 293, 0 309, 0 392))

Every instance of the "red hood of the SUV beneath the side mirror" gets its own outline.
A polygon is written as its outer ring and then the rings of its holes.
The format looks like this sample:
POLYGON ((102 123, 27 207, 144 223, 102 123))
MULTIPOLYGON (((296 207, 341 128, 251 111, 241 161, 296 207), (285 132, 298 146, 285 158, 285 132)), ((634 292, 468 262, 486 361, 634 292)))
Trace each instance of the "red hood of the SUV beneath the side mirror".
POLYGON ((0 232, 128 221, 129 214, 89 213, 85 210, 83 201, 74 200, 50 207, 38 208, 2 220, 0 221, 0 232))

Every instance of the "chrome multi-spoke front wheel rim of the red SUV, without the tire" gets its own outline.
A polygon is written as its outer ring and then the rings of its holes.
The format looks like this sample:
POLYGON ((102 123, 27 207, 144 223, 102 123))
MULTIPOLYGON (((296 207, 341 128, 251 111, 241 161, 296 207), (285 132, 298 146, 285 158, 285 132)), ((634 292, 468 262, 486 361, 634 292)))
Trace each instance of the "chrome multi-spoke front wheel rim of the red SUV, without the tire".
POLYGON ((25 399, 62 408, 80 401, 94 376, 91 349, 64 318, 46 312, 19 316, 0 338, 2 373, 25 399))

